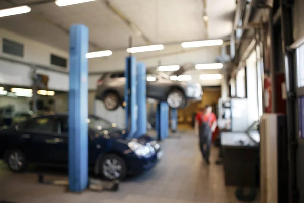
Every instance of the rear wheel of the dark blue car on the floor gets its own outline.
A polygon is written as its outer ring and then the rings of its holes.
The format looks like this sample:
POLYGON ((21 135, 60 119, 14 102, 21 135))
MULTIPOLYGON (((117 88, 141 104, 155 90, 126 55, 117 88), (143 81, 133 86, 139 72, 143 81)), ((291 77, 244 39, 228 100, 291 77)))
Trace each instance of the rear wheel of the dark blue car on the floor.
POLYGON ((20 173, 25 171, 27 168, 26 158, 23 152, 18 149, 9 150, 6 153, 6 162, 10 170, 13 172, 20 173))

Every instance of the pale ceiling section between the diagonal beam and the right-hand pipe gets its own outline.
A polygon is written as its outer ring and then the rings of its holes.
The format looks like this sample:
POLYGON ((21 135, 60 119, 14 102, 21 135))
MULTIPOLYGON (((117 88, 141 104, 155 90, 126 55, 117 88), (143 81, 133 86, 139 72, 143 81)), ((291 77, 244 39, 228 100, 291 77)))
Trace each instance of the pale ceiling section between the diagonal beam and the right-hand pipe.
POLYGON ((205 38, 201 0, 112 0, 111 2, 155 43, 205 38))

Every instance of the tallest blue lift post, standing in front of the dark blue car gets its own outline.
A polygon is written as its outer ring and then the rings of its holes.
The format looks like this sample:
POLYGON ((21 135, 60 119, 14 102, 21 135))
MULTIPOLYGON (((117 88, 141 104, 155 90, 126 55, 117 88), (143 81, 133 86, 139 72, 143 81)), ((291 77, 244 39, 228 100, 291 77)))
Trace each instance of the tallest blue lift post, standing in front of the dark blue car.
POLYGON ((68 97, 68 176, 69 190, 88 187, 88 59, 89 29, 85 25, 70 28, 68 97))

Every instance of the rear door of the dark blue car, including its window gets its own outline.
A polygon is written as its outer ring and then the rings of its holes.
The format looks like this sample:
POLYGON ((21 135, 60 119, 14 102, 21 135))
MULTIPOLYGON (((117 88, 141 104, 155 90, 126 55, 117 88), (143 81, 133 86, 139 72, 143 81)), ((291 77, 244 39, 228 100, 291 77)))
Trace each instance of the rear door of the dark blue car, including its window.
POLYGON ((50 116, 36 117, 21 125, 19 129, 21 137, 30 140, 27 150, 31 162, 56 162, 53 153, 58 142, 55 137, 57 126, 57 119, 50 116))

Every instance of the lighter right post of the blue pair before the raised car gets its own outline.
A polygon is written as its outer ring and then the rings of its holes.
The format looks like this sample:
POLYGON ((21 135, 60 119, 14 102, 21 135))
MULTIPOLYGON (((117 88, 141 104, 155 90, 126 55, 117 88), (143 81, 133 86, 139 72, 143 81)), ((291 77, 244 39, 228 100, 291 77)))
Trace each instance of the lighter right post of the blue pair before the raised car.
POLYGON ((134 134, 135 138, 146 134, 147 132, 147 97, 146 97, 146 67, 144 63, 137 64, 137 131, 134 134))

